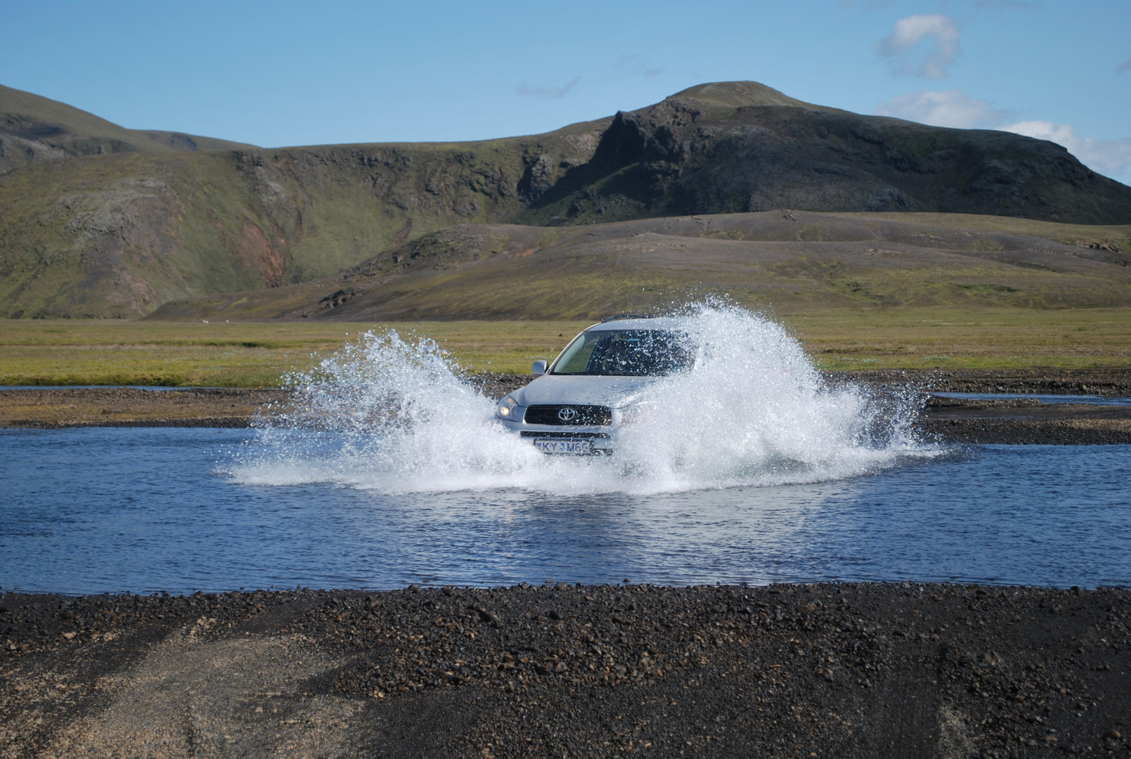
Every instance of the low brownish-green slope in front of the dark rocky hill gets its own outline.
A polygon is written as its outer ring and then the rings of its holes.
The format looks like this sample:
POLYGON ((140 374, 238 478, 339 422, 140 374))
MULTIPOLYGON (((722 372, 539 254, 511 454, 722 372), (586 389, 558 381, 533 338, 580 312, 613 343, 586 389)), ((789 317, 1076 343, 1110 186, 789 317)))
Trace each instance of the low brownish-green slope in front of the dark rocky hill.
POLYGON ((1131 226, 943 214, 460 224, 330 277, 172 301, 150 318, 592 319, 705 297, 779 313, 1126 308, 1129 243, 1131 226))

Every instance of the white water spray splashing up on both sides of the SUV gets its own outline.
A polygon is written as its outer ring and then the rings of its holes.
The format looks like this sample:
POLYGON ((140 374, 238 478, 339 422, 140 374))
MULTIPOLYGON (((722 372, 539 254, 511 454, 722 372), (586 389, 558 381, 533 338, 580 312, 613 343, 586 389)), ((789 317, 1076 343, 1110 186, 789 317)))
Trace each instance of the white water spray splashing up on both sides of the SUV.
POLYGON ((389 331, 291 377, 296 409, 262 425, 231 474, 383 492, 639 493, 844 478, 941 452, 910 432, 915 398, 829 387, 777 324, 706 305, 679 320, 693 369, 637 396, 650 413, 623 428, 611 458, 538 452, 435 343, 389 331))

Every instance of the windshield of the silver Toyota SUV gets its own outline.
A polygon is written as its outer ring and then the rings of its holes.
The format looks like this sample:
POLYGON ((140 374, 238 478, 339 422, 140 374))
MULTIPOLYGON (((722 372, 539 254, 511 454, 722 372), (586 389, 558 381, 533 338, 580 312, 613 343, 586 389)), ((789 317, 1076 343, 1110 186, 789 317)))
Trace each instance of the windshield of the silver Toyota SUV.
POLYGON ((654 377, 691 365, 687 338, 659 329, 581 333, 554 362, 552 374, 654 377))

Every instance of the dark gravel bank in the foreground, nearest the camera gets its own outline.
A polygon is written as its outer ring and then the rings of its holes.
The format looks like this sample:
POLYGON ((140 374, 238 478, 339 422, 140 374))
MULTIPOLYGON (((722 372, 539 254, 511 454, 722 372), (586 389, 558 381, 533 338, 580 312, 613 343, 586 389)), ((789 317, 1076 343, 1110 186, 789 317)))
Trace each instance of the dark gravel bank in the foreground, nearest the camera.
POLYGON ((0 597, 0 756, 1129 756, 1131 593, 0 597))

